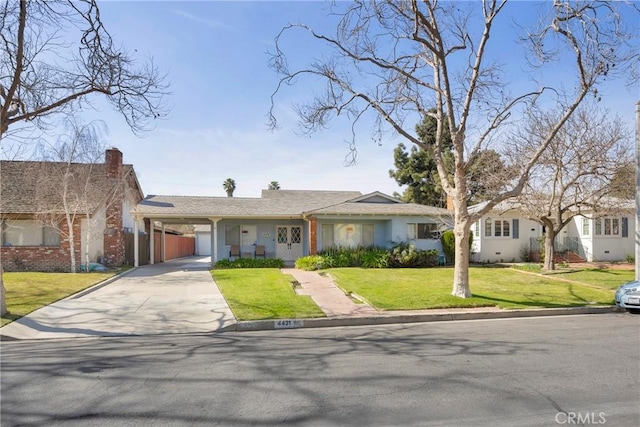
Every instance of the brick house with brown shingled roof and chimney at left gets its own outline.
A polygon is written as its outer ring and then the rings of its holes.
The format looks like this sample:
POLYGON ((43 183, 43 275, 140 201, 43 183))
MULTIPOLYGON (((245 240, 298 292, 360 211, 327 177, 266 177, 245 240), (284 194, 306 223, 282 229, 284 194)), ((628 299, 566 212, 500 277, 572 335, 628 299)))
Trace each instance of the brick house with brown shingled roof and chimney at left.
POLYGON ((125 231, 135 224, 131 209, 144 198, 132 165, 117 148, 106 150, 103 164, 2 161, 1 260, 6 271, 68 271, 69 227, 73 222, 76 265, 125 260, 125 231), (68 172, 68 173, 67 173, 68 172), (67 176, 67 179, 61 177, 67 176), (60 195, 67 182, 67 207, 60 195))

